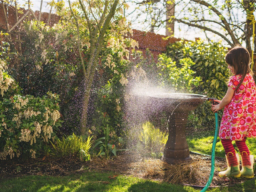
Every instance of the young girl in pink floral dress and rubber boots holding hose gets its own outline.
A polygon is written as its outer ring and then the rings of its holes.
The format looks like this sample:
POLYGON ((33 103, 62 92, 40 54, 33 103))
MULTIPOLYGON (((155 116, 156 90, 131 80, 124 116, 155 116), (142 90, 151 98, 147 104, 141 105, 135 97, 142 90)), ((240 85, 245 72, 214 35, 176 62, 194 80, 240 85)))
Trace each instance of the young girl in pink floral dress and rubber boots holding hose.
POLYGON ((213 112, 224 107, 219 137, 225 149, 228 169, 219 172, 219 176, 253 178, 253 155, 245 144, 247 137, 256 138, 256 86, 250 68, 250 54, 237 45, 227 53, 226 63, 233 76, 229 79, 225 97, 221 101, 215 100, 218 105, 212 105, 213 112), (235 153, 232 140, 235 140, 241 154, 241 172, 239 155, 235 153))

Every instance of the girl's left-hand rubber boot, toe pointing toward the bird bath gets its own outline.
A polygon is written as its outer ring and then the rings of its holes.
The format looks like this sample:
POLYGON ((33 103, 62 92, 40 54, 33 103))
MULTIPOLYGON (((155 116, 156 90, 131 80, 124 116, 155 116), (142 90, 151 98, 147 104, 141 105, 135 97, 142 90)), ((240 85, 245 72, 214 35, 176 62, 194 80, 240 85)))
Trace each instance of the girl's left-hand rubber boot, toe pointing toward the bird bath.
POLYGON ((226 171, 219 172, 220 177, 241 177, 240 168, 239 168, 239 155, 226 155, 226 161, 228 164, 228 168, 226 171))

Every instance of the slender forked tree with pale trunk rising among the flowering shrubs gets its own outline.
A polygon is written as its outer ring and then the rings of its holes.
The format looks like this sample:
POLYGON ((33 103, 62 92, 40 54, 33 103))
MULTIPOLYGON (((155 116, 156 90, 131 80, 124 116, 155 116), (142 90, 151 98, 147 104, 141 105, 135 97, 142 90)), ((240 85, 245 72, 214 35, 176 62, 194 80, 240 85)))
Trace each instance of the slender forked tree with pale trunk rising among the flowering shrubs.
MULTIPOLYGON (((81 134, 85 134, 87 124, 88 104, 94 74, 99 65, 100 52, 106 38, 110 33, 114 33, 112 22, 115 17, 120 17, 120 7, 123 3, 118 0, 78 0, 77 3, 71 4, 69 1, 69 9, 75 21, 78 41, 78 51, 84 74, 84 99, 81 118, 81 134), (118 16, 117 16, 118 15, 118 16), (86 62, 83 56, 83 33, 84 27, 89 33, 89 47, 86 62)), ((122 30, 121 26, 120 30, 122 30)))

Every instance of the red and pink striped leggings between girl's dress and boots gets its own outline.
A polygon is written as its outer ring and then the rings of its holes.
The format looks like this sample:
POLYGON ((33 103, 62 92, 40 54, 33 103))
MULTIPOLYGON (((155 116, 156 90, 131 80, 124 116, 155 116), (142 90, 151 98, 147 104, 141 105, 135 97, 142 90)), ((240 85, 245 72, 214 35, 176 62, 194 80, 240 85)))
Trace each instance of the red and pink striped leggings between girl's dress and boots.
MULTIPOLYGON (((240 151, 241 155, 250 155, 249 149, 247 147, 247 145, 245 144, 246 141, 246 137, 241 140, 241 141, 236 141, 236 146, 240 151)), ((228 139, 222 139, 221 143, 223 145, 223 148, 225 149, 225 153, 227 156, 232 156, 235 155, 235 148, 232 145, 232 140, 228 140, 228 139)))

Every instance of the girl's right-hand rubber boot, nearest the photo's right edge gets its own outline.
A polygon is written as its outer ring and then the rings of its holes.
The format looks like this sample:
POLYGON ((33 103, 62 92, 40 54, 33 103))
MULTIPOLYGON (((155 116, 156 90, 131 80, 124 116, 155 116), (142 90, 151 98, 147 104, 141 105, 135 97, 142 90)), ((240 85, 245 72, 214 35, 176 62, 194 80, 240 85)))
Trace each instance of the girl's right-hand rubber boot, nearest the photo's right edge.
POLYGON ((241 159, 242 159, 241 177, 244 177, 247 179, 254 178, 253 155, 241 155, 241 159))

